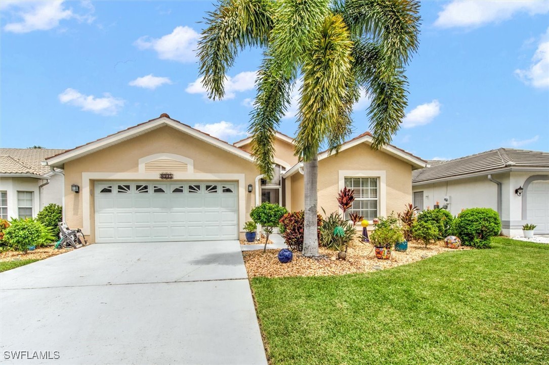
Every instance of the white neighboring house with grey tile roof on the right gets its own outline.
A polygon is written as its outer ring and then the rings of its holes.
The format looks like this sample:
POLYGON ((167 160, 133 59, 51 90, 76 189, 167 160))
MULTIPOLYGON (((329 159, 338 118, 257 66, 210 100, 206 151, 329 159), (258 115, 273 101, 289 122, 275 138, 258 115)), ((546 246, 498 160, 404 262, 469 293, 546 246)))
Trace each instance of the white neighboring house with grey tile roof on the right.
POLYGON ((492 208, 506 236, 522 235, 525 223, 536 224, 535 233, 549 233, 549 152, 481 152, 416 170, 412 185, 413 203, 420 209, 437 201, 454 215, 466 208, 492 208))

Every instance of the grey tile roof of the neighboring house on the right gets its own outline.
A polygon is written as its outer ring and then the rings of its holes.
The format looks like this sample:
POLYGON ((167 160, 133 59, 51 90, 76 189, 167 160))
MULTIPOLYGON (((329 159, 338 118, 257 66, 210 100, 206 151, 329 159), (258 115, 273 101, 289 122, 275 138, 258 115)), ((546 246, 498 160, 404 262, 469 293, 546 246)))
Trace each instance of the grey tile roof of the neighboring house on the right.
POLYGON ((549 152, 506 148, 480 152, 416 170, 412 175, 412 184, 490 173, 506 167, 549 168, 549 152))

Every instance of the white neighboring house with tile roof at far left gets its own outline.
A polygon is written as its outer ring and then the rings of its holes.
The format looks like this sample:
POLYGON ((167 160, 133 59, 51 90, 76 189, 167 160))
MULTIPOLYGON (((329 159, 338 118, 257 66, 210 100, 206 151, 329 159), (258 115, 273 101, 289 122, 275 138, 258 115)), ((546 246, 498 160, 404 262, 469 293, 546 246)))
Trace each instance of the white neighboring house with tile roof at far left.
POLYGON ((63 204, 63 175, 44 159, 64 150, 0 149, 0 218, 30 218, 49 203, 63 204))

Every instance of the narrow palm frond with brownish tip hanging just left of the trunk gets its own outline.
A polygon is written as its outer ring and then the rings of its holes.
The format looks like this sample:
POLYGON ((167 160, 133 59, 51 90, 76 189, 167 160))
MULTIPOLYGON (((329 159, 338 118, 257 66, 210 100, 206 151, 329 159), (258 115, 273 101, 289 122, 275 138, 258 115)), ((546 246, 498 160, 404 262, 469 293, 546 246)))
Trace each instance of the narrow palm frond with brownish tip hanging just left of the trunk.
POLYGON ((252 155, 268 180, 273 177, 275 134, 290 103, 290 79, 276 59, 266 55, 257 77, 257 96, 251 114, 252 155))

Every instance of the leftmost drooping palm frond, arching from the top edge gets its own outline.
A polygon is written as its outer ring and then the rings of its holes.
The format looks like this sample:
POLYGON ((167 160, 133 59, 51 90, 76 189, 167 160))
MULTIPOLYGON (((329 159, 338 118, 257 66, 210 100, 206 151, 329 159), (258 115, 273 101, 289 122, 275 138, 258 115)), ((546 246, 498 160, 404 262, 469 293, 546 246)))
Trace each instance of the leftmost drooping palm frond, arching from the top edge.
POLYGON ((263 47, 273 27, 270 0, 222 0, 208 12, 198 42, 199 75, 211 99, 222 99, 227 70, 239 50, 263 47))

